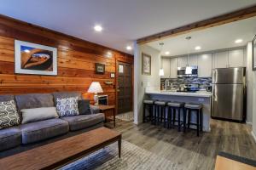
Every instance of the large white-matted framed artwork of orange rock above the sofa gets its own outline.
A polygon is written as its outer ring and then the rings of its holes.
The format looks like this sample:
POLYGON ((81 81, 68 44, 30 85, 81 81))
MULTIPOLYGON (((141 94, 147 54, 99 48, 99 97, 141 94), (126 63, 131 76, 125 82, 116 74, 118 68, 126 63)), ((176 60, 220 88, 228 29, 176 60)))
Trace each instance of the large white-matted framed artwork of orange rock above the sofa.
POLYGON ((57 75, 57 48, 15 40, 15 73, 57 75))

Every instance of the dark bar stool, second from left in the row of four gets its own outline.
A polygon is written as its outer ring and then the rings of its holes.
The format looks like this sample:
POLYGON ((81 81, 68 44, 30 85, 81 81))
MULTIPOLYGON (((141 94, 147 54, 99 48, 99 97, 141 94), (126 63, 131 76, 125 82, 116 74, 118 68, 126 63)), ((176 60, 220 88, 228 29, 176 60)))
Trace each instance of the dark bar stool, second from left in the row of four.
POLYGON ((154 124, 160 124, 164 119, 164 126, 166 127, 166 102, 154 101, 154 124))

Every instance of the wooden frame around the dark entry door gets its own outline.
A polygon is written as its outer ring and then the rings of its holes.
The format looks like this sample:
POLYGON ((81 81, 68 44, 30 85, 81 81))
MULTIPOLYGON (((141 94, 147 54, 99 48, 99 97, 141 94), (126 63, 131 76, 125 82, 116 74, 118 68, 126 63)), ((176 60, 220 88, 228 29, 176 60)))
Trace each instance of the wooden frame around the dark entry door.
POLYGON ((119 114, 119 94, 118 94, 118 77, 119 77, 119 62, 122 62, 122 63, 125 63, 127 65, 131 65, 131 111, 133 111, 133 101, 134 101, 134 95, 133 95, 133 91, 134 91, 134 74, 133 74, 133 63, 130 63, 130 62, 125 62, 125 61, 122 61, 122 60, 119 60, 119 59, 115 59, 115 112, 116 112, 116 115, 119 114))

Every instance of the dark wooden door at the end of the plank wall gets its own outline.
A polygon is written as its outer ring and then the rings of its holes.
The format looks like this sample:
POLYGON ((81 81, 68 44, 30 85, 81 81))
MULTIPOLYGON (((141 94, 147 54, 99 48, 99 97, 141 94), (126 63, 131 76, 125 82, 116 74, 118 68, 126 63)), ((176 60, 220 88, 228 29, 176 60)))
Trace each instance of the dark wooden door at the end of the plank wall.
POLYGON ((118 68, 118 113, 132 110, 132 76, 131 65, 123 62, 117 63, 118 68))

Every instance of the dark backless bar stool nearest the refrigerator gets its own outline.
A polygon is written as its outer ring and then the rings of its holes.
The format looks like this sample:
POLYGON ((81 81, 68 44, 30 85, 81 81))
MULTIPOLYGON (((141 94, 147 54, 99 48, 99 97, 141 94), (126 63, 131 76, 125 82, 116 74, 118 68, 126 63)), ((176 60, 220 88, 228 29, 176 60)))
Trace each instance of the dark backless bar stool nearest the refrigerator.
POLYGON ((199 136, 199 131, 202 131, 202 105, 201 104, 186 104, 185 106, 186 114, 188 114, 188 128, 191 125, 196 126, 197 136, 199 136), (196 123, 191 122, 191 111, 195 111, 196 123))

